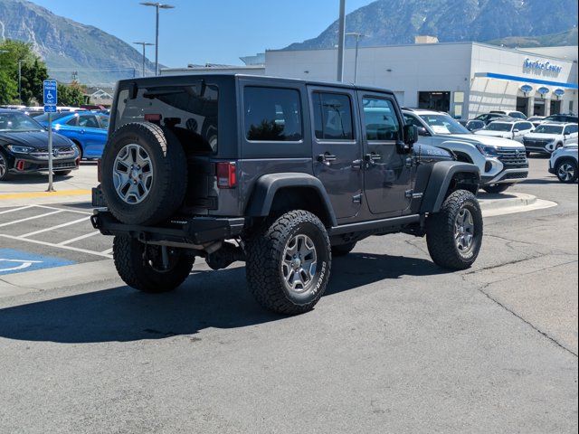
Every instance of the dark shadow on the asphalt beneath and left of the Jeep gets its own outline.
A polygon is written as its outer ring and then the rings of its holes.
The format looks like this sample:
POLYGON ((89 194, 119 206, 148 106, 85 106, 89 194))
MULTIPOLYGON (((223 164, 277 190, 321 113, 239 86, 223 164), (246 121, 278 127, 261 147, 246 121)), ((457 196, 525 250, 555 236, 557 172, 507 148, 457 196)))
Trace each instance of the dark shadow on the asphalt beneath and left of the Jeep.
MULTIPOLYGON (((384 279, 444 272, 425 259, 365 253, 337 258, 334 269, 326 297, 384 279)), ((240 267, 196 272, 167 294, 119 287, 0 309, 0 337, 63 344, 130 342, 283 318, 255 303, 240 267)))

